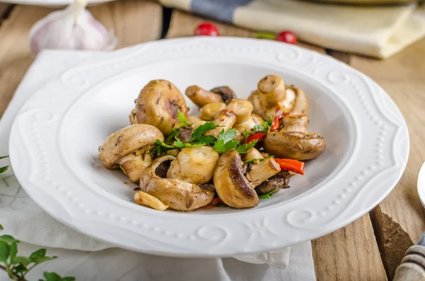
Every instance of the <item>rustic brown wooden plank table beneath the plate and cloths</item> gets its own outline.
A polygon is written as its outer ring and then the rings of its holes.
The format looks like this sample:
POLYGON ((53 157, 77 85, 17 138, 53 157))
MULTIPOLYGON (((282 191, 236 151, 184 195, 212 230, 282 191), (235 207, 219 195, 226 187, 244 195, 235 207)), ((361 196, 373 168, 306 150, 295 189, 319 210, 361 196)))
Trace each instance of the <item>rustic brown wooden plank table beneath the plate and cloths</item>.
MULTIPOLYGON (((203 18, 162 8, 156 2, 120 0, 90 7, 107 28, 115 29, 118 48, 160 38, 190 36, 203 18)), ((33 62, 28 30, 51 8, 0 3, 0 113, 33 62)), ((251 37, 253 32, 217 23, 222 35, 251 37)), ((300 43, 327 53, 375 79, 394 99, 407 121, 409 163, 395 190, 352 224, 312 241, 317 280, 391 280, 404 251, 425 231, 424 208, 416 178, 425 161, 425 39, 389 59, 376 60, 300 43)))

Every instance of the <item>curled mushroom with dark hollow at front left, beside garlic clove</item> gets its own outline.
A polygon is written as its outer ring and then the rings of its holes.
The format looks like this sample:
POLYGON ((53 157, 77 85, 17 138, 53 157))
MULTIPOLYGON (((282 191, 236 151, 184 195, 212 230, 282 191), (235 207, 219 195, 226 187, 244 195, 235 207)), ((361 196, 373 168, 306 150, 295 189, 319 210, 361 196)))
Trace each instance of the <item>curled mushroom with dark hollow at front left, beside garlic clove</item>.
POLYGON ((166 178, 166 173, 174 161, 173 156, 162 156, 145 169, 140 178, 140 190, 157 197, 169 208, 177 211, 193 211, 212 201, 215 192, 200 188, 193 183, 166 178))

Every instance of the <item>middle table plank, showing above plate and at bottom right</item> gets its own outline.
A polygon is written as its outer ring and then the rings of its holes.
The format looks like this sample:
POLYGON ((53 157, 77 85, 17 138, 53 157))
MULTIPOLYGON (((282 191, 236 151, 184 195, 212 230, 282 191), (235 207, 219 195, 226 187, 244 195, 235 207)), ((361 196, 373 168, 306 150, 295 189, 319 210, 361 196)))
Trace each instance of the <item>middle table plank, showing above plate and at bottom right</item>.
MULTIPOLYGON (((173 11, 167 38, 187 37, 205 18, 173 11)), ((215 23, 224 36, 253 37, 254 32, 215 23)), ((324 53, 321 47, 298 45, 324 53)), ((342 57, 342 54, 336 55, 342 57)), ((345 55, 344 55, 345 56, 345 55)), ((346 56, 345 56, 346 57, 346 56)), ((314 268, 318 281, 387 280, 368 214, 334 233, 312 241, 314 268)))

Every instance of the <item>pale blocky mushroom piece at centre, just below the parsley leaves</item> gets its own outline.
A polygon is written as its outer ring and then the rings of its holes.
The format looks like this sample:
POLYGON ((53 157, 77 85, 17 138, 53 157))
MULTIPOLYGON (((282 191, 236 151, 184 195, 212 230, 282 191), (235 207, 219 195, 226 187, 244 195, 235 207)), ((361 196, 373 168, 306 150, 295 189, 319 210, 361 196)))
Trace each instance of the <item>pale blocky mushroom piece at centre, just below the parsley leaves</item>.
POLYGON ((171 162, 167 178, 196 185, 208 183, 212 178, 218 152, 212 147, 186 147, 171 162))

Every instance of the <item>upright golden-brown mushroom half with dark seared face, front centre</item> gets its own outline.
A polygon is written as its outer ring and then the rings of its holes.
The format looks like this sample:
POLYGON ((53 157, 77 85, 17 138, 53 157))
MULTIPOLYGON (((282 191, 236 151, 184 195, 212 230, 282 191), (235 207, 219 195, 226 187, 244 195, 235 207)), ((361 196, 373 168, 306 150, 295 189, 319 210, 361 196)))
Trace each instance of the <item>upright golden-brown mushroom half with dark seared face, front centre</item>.
POLYGON ((221 200, 230 207, 244 209, 259 204, 259 196, 244 176, 242 159, 237 151, 222 154, 214 170, 214 185, 221 200))

